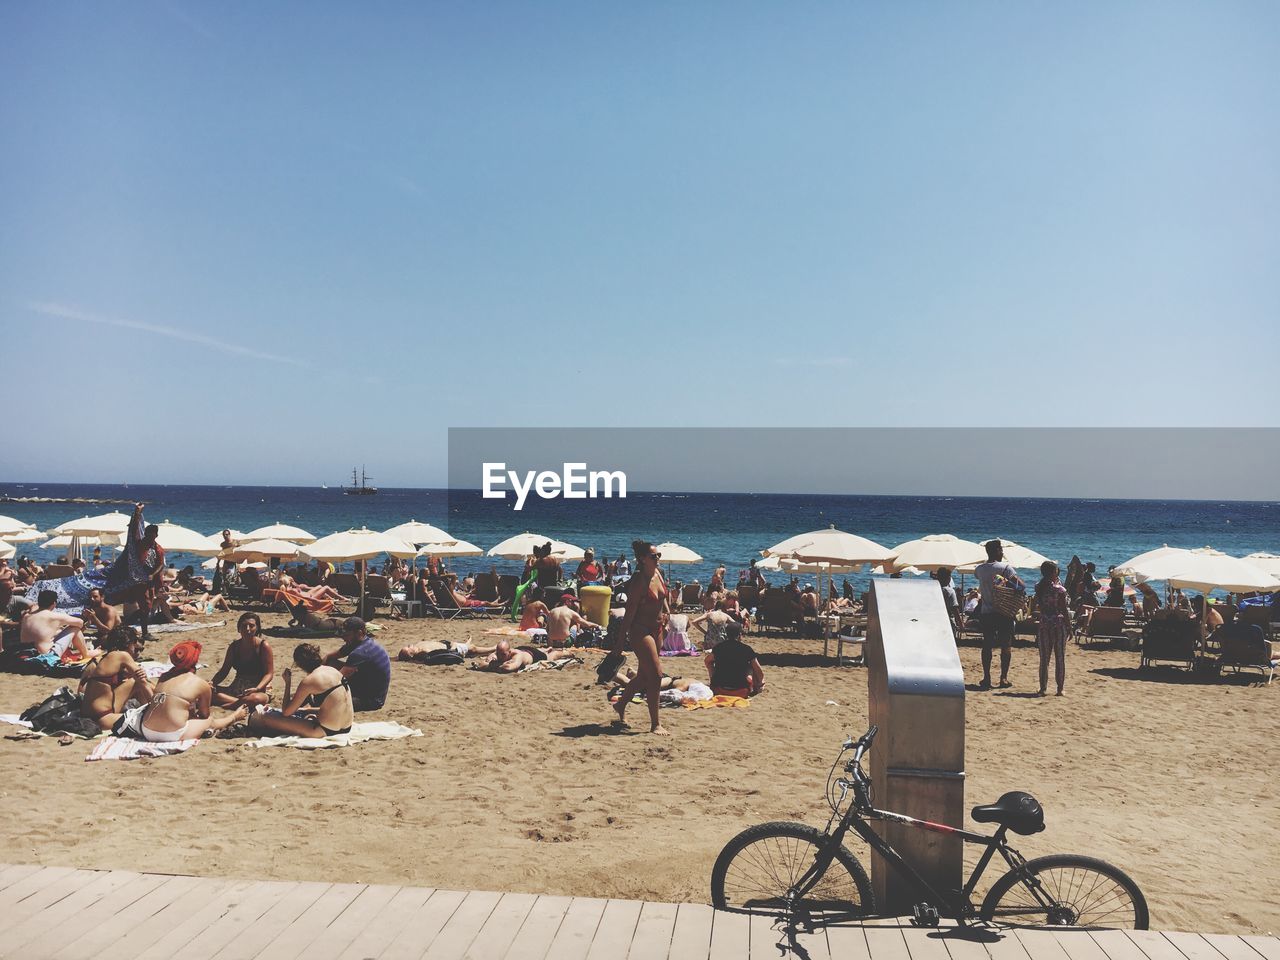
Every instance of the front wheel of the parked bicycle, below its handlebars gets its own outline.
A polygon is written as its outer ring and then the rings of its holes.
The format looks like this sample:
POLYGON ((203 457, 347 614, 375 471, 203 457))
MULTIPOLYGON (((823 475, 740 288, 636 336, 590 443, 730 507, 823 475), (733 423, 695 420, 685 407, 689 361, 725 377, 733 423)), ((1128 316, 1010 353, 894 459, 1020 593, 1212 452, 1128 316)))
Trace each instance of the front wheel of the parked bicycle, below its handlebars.
POLYGON ((801 900, 788 902, 795 883, 813 867, 829 838, 804 823, 760 823, 733 837, 712 869, 712 905, 721 910, 810 916, 861 916, 876 910, 863 865, 844 845, 801 900))

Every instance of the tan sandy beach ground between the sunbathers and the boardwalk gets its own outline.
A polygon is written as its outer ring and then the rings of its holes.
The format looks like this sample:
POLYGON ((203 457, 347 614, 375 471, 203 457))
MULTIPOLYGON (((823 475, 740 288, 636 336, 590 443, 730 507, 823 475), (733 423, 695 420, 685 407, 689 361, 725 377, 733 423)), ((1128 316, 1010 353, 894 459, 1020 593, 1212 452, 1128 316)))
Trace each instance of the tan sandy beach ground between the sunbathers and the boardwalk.
MULTIPOLYGON (((202 676, 233 622, 184 635, 205 644, 202 676)), ((494 625, 379 623, 393 655, 420 637, 480 640, 494 625)), ((387 708, 362 717, 422 731, 394 742, 303 751, 211 740, 180 756, 86 763, 83 741, 3 740, 0 861, 707 902, 716 855, 740 829, 826 822, 827 769, 841 739, 867 726, 865 671, 829 666, 819 641, 748 640, 765 692, 745 710, 667 709, 673 736, 660 740, 639 705, 628 731, 609 727, 599 653, 516 676, 394 663, 387 708)), ((1012 690, 966 698, 966 806, 1033 792, 1048 827, 1018 838, 1023 854, 1114 861, 1146 892, 1153 928, 1280 929, 1268 763, 1280 687, 1139 676, 1137 653, 1073 645, 1068 696, 1039 700, 1028 696, 1025 640, 1012 690)), ((293 643, 273 640, 278 669, 293 643)), ((978 649, 960 655, 975 681, 978 649)), ((704 675, 692 658, 667 672, 704 675)), ((0 675, 0 712, 60 682, 0 675)))

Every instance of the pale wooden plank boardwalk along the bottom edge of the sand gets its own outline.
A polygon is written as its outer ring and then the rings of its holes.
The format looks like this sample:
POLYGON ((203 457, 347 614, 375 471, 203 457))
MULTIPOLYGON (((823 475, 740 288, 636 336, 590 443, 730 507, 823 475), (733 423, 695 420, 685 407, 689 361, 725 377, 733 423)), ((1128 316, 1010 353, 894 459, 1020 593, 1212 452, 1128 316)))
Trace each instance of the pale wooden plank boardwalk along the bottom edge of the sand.
POLYGON ((0 957, 23 960, 1280 960, 1274 937, 982 933, 877 923, 788 940, 700 904, 0 865, 0 957))

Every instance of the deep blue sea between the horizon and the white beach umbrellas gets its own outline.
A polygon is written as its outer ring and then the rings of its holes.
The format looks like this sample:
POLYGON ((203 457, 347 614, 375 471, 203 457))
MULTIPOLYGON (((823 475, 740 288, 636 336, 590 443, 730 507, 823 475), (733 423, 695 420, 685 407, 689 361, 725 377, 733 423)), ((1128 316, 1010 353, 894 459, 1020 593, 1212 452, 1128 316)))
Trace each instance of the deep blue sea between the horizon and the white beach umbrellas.
MULTIPOLYGON (((672 577, 705 582, 716 566, 728 567, 730 581, 760 550, 795 534, 835 525, 886 547, 929 534, 966 540, 995 536, 1014 540, 1064 564, 1071 557, 1098 570, 1167 544, 1213 547, 1243 557, 1280 553, 1280 502, 1266 500, 1117 500, 1000 497, 868 497, 746 493, 635 493, 626 499, 541 500, 531 497, 520 512, 512 500, 484 499, 479 490, 381 488, 371 497, 351 497, 321 486, 179 486, 138 484, 0 483, 8 498, 88 498, 125 500, 92 503, 0 503, 0 515, 49 530, 83 516, 128 513, 133 500, 146 504, 150 522, 172 521, 216 535, 223 527, 248 532, 274 522, 300 526, 315 536, 366 526, 385 530, 408 520, 435 524, 454 538, 489 549, 524 531, 591 547, 596 557, 631 556, 631 541, 675 541, 704 558, 673 568, 672 577)), ((15 545, 18 556, 55 559, 40 544, 15 545)), ((106 553, 108 550, 104 550, 106 553)), ((202 558, 170 553, 170 559, 202 558)), ((512 561, 458 558, 453 570, 518 572, 512 561)), ((1032 572, 1034 575, 1034 572, 1032 572)), ((858 588, 869 573, 850 575, 858 588)), ((774 573, 776 581, 785 575, 774 573)))

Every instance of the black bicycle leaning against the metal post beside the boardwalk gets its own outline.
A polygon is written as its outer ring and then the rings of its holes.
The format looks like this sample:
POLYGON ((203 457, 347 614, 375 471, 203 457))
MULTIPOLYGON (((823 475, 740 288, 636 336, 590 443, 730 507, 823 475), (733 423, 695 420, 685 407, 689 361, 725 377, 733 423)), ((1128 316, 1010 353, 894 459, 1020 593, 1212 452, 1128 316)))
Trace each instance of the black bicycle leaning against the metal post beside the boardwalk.
POLYGON ((852 829, 922 895, 922 902, 913 910, 911 922, 916 925, 937 927, 945 916, 960 925, 997 922, 1147 929, 1147 901, 1138 884, 1117 868, 1076 855, 1027 860, 1009 846, 1010 831, 1028 836, 1044 829, 1044 813, 1029 794, 1007 792, 995 804, 973 808, 978 823, 998 824, 989 836, 876 809, 872 781, 861 760, 877 731, 872 726, 858 740, 846 740, 832 764, 827 777, 827 804, 832 813, 824 829, 776 820, 749 827, 724 846, 712 869, 716 908, 781 913, 785 920, 806 925, 812 925, 814 916, 827 923, 873 916, 876 896, 870 881, 844 845, 845 835, 852 829), (836 776, 849 750, 854 755, 845 763, 845 776, 836 776), (841 813, 850 794, 852 803, 841 813), (956 835, 965 844, 984 845, 986 850, 960 890, 937 890, 872 829, 876 820, 956 835), (997 852, 1009 864, 1009 873, 975 906, 973 892, 997 852))

